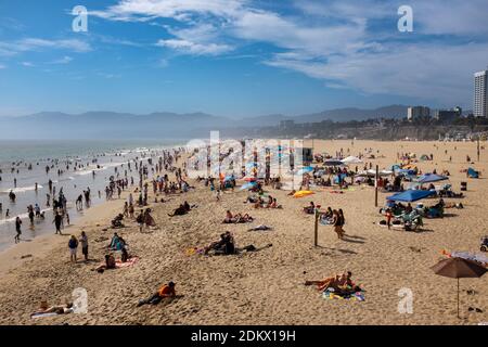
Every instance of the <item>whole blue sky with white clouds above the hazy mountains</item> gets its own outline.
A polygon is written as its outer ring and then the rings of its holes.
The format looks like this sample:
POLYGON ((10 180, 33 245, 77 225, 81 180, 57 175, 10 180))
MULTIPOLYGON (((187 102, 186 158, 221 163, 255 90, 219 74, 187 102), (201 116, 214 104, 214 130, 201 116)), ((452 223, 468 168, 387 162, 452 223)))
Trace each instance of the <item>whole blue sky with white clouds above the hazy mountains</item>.
POLYGON ((0 116, 472 107, 488 1, 2 0, 0 116), (398 8, 413 10, 400 33, 398 8), (74 33, 75 5, 88 31, 74 33))

